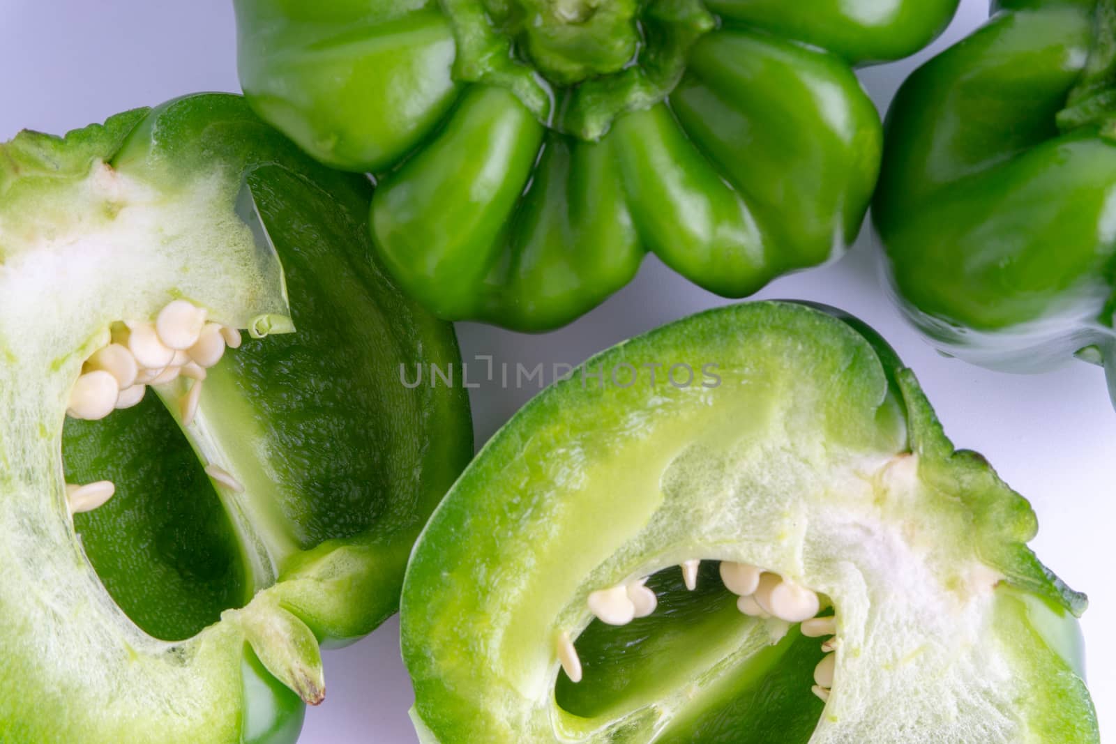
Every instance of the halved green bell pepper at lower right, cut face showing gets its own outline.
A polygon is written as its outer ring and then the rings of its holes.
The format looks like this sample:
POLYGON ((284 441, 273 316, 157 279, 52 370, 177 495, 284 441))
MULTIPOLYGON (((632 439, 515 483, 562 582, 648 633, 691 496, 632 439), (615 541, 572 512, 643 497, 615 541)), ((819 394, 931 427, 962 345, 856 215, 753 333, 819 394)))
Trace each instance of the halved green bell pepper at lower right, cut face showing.
POLYGON ((1036 529, 866 326, 712 310, 548 388, 439 505, 403 587, 412 717, 469 744, 1095 743, 1085 598, 1036 529))

